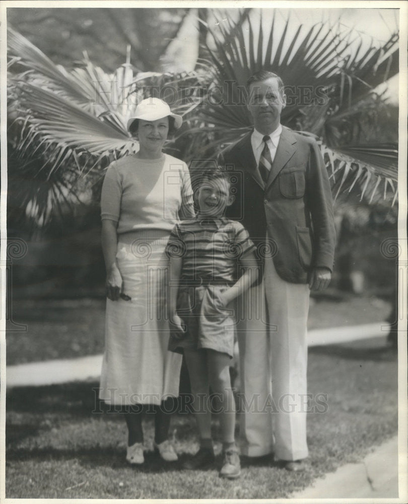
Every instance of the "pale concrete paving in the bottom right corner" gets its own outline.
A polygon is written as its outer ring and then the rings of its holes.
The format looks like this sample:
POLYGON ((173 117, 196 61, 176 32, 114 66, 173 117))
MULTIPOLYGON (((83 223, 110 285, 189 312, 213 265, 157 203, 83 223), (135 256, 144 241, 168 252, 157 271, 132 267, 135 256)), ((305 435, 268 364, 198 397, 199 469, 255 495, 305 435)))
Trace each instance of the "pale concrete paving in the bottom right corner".
MULTIPOLYGON (((406 475, 406 460, 400 460, 400 474, 406 475)), ((401 502, 406 502, 406 476, 401 478, 401 502)), ((397 498, 398 497, 398 442, 393 437, 376 448, 361 462, 346 464, 335 472, 314 481, 313 485, 290 498, 397 498)), ((372 502, 370 500, 370 502, 372 502)), ((389 502, 389 501, 388 501, 389 502)))

